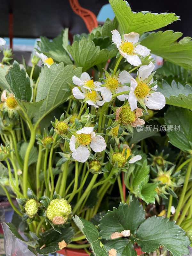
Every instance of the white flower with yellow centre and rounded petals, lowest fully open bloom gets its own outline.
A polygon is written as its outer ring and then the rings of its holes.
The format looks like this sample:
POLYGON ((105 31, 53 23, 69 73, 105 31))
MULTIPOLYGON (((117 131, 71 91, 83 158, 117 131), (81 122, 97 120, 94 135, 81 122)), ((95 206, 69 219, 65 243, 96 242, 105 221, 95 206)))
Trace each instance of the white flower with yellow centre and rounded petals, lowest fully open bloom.
POLYGON ((69 148, 72 151, 72 157, 78 162, 84 163, 88 159, 90 151, 86 148, 87 145, 90 145, 95 152, 101 152, 107 146, 104 138, 93 132, 93 127, 87 126, 76 131, 76 136, 71 136, 69 148))

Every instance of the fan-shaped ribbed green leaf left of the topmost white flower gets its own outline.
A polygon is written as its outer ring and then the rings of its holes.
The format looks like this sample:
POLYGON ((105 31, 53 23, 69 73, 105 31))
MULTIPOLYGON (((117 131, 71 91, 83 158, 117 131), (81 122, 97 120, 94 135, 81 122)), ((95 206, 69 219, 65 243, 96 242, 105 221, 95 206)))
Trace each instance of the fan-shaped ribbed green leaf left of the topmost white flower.
POLYGON ((100 50, 93 41, 83 37, 79 42, 68 45, 68 51, 75 61, 76 67, 83 67, 83 71, 98 65, 116 56, 116 49, 109 52, 108 49, 100 50))

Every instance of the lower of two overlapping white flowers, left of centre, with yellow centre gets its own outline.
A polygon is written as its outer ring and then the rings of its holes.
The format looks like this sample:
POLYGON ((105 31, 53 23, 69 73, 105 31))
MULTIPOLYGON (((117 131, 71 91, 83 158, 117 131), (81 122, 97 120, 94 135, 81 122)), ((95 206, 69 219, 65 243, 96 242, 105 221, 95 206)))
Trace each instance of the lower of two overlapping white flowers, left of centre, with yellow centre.
POLYGON ((91 106, 94 106, 95 108, 99 108, 98 106, 103 106, 105 103, 104 100, 102 100, 101 96, 96 91, 88 91, 85 90, 85 93, 81 92, 78 87, 74 87, 73 90, 73 96, 78 100, 83 100, 86 98, 86 103, 88 103, 91 106))

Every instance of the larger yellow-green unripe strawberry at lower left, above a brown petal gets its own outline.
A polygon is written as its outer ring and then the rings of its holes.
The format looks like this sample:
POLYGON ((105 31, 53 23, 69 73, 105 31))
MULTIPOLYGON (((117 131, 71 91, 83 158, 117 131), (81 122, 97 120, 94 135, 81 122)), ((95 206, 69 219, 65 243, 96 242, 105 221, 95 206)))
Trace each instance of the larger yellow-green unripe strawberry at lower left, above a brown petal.
POLYGON ((71 205, 65 199, 53 199, 47 207, 47 218, 53 220, 54 217, 62 217, 65 222, 71 212, 71 205))

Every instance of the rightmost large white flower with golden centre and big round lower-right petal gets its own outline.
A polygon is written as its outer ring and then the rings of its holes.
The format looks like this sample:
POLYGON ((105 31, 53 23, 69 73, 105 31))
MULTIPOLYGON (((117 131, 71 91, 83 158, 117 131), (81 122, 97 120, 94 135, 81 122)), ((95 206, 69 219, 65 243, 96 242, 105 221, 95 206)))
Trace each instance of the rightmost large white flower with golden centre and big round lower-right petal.
POLYGON ((144 99, 144 104, 150 109, 162 109, 165 106, 165 97, 162 93, 150 93, 151 90, 156 91, 157 88, 157 85, 152 88, 149 87, 153 83, 153 78, 146 82, 153 69, 152 62, 149 65, 141 66, 138 70, 137 81, 131 78, 129 104, 132 111, 137 108, 137 100, 141 99, 144 99))

